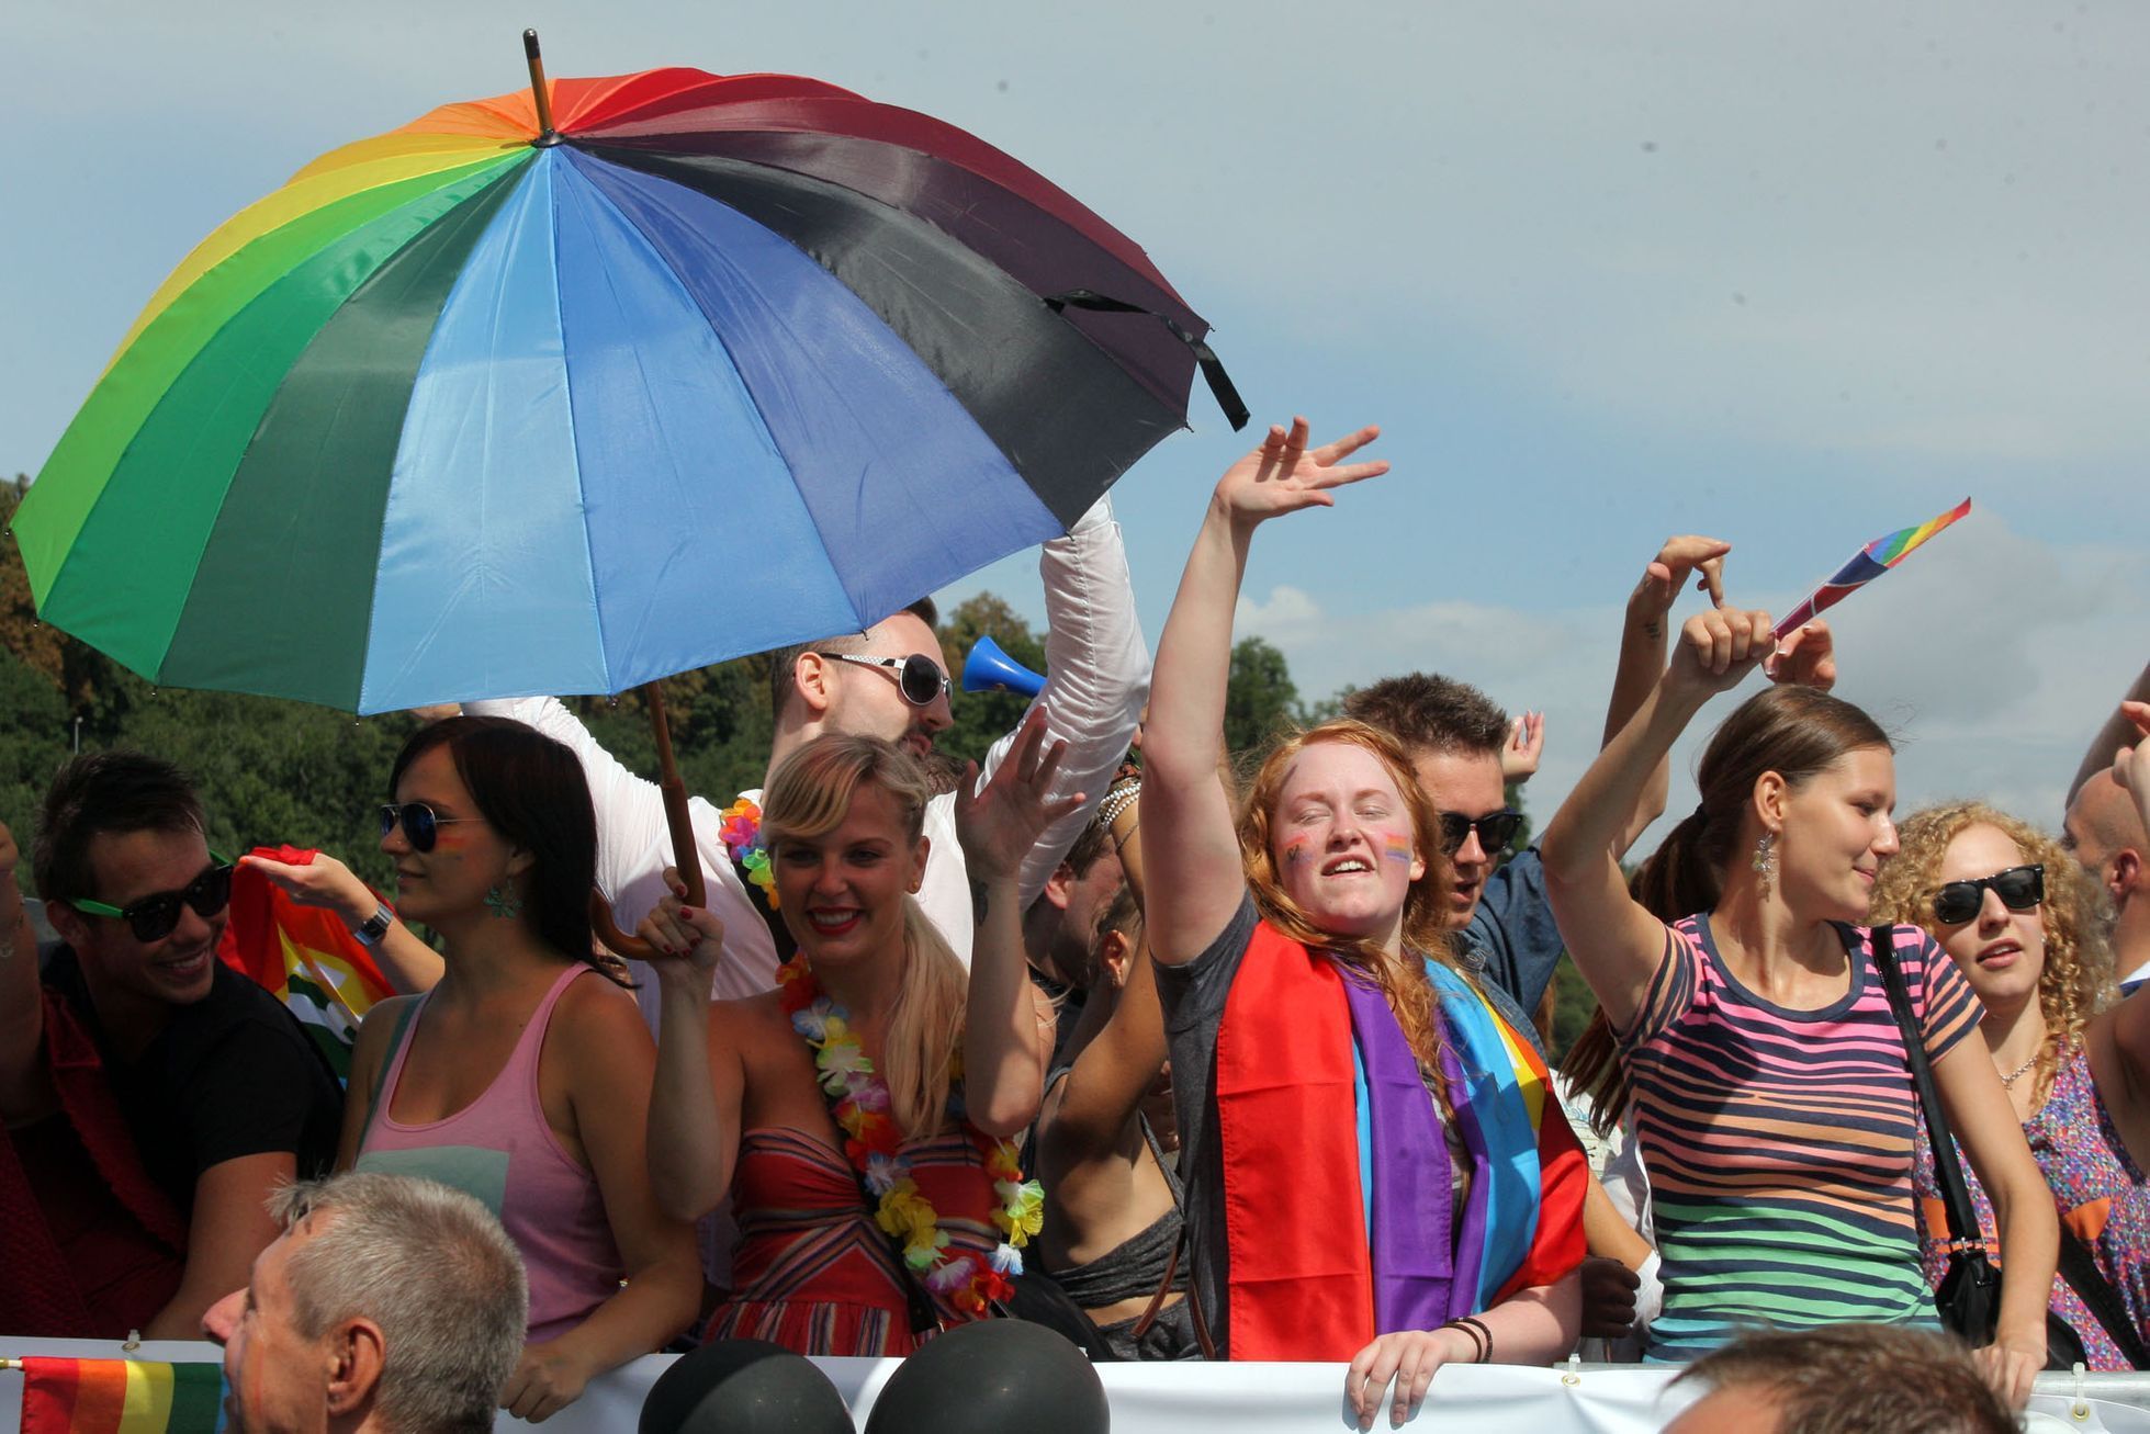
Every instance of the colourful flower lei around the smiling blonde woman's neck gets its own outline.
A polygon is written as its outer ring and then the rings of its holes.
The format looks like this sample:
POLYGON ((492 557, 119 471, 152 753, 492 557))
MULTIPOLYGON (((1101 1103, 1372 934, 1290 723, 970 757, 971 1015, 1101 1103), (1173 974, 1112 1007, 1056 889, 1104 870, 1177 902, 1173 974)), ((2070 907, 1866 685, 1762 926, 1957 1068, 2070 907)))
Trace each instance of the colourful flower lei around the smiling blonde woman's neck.
MULTIPOLYGON (((1021 1277, 1021 1247, 1045 1223, 1045 1191, 1023 1178, 1015 1142, 995 1139, 963 1120, 961 1094, 948 1092, 948 1112, 963 1124, 972 1144, 985 1157, 993 1180, 993 1223, 1002 1243, 991 1256, 955 1247, 940 1225, 903 1157, 903 1131, 890 1114, 888 1081, 873 1071, 873 1060, 851 1032, 843 1006, 821 995, 821 987, 798 955, 776 967, 776 995, 791 1028, 813 1047, 821 1090, 832 1101, 836 1127, 843 1129, 843 1152, 858 1170, 866 1189, 879 1200, 873 1223, 903 1243, 903 1262, 918 1271, 924 1286, 970 1318, 985 1318, 993 1301, 1015 1294, 1010 1279, 1021 1277)), ((957 1051, 950 1079, 963 1077, 963 1053, 957 1051)))

